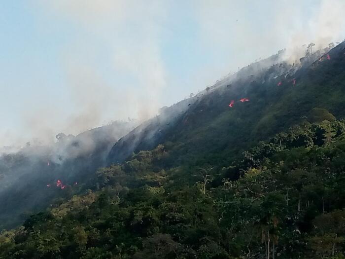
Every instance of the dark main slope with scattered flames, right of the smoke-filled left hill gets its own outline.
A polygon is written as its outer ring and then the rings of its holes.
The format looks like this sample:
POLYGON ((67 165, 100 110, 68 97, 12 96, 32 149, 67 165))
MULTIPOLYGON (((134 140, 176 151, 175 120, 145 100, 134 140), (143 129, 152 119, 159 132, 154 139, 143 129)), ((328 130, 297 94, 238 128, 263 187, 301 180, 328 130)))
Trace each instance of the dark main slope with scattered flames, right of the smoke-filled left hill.
POLYGON ((184 101, 190 106, 171 120, 165 119, 169 125, 156 123, 158 116, 141 126, 140 135, 138 129, 129 133, 111 149, 109 161, 121 162, 132 152, 172 142, 178 146, 175 164, 184 159, 194 159, 196 163, 221 163, 224 159, 228 162, 227 157, 232 159, 257 140, 301 122, 314 108, 329 110, 342 118, 344 47, 343 42, 329 53, 307 56, 300 66, 281 61, 284 53, 252 64, 184 101), (242 98, 249 102, 239 102, 242 98), (235 104, 230 108, 232 100, 235 104), (157 137, 152 129, 163 134, 157 137), (212 161, 214 152, 223 156, 212 161))

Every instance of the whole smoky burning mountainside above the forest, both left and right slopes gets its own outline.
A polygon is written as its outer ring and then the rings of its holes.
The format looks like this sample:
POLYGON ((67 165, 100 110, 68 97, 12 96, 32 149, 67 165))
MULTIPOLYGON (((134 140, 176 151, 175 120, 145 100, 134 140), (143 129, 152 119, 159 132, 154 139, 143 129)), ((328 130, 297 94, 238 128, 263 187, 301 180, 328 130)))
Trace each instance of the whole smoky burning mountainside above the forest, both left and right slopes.
MULTIPOLYGON (((29 147, 3 156, 2 225, 14 226, 27 217, 22 213, 44 208, 57 197, 94 188, 92 177, 98 167, 123 162, 133 152, 164 144, 170 153, 160 164, 164 170, 177 167, 195 171, 204 165, 221 170, 259 140, 294 124, 306 119, 314 122, 315 118, 333 118, 328 111, 343 118, 344 47, 342 43, 332 50, 315 52, 302 59, 300 65, 284 62, 284 52, 251 64, 198 95, 162 110, 118 142, 116 139, 122 133, 113 137, 109 128, 75 139, 60 135, 62 138, 53 150, 29 147), (242 98, 249 101, 240 102, 242 98), (229 107, 232 100, 234 106, 229 107), (28 155, 32 152, 39 155, 32 158, 28 155), (54 186, 57 180, 67 184, 67 188, 54 186)), ((231 170, 226 174, 229 177, 231 170)), ((238 174, 232 177, 236 179, 238 174)))

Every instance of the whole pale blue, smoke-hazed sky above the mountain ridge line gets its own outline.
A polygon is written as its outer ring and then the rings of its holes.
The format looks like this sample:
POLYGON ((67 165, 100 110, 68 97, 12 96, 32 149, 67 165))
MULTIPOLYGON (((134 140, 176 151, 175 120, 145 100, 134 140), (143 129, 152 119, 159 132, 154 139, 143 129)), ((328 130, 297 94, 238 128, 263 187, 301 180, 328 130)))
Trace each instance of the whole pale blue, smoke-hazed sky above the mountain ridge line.
POLYGON ((0 146, 145 120, 278 50, 345 38, 344 0, 0 1, 0 146))

